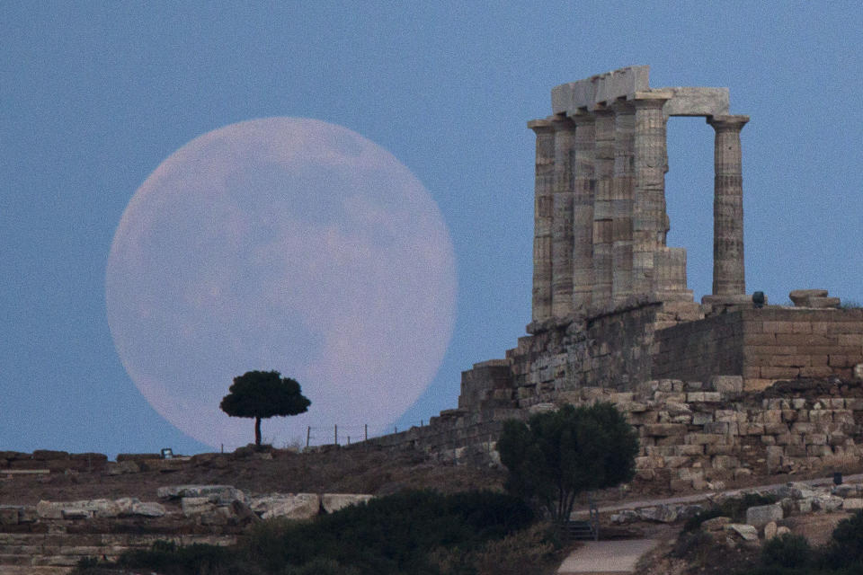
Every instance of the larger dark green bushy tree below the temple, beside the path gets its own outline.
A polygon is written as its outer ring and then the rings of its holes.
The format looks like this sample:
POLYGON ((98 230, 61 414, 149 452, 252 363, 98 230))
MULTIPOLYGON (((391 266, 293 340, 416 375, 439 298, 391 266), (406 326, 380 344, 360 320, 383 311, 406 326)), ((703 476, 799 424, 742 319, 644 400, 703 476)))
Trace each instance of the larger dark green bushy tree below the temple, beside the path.
POLYGON ((510 473, 507 489, 565 522, 578 493, 632 479, 638 438, 610 403, 565 405, 527 424, 505 421, 497 450, 510 473))

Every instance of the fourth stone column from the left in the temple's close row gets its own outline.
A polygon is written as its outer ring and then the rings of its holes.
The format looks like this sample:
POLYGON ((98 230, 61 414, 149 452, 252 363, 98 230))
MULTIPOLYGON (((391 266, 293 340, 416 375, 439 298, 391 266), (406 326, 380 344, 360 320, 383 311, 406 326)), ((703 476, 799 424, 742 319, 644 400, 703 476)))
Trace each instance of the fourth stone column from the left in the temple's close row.
POLYGON ((611 302, 611 189, 614 182, 614 112, 605 108, 593 111, 593 305, 611 302))

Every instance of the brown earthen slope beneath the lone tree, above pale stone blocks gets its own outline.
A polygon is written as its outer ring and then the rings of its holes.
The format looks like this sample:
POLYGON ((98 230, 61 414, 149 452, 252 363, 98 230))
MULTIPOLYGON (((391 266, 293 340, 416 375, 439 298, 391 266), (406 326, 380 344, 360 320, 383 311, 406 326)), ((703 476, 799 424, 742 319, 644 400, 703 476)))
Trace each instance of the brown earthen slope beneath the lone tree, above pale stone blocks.
POLYGON ((190 483, 233 485, 247 493, 386 495, 404 488, 443 492, 501 489, 505 479, 505 472, 499 468, 432 461, 412 450, 374 447, 304 454, 281 449, 262 453, 241 450, 235 454, 193 456, 170 468, 141 467, 137 473, 119 474, 84 471, 4 477, 0 473, 0 505, 120 497, 153 500, 161 486, 190 483))

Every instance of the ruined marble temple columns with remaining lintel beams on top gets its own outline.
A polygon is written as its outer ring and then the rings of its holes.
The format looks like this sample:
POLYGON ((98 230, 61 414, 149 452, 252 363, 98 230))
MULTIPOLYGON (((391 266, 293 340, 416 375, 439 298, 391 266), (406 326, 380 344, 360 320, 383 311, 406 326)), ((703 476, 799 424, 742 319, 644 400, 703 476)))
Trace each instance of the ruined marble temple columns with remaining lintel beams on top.
POLYGON ((716 130, 713 295, 743 303, 743 176, 740 132, 727 88, 651 88, 649 66, 561 84, 553 114, 534 119, 536 199, 533 322, 630 296, 692 301, 686 252, 665 243, 672 116, 703 116, 716 130))

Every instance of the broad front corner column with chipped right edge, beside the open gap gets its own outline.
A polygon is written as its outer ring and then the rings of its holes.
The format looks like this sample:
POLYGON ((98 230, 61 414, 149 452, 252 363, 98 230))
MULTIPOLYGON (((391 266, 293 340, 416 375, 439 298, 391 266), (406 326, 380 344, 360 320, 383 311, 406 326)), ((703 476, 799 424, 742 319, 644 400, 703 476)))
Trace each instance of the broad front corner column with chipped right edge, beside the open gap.
POLYGON ((654 255, 665 245, 665 116, 670 92, 636 93, 635 198, 633 209, 633 293, 656 291, 654 255))

